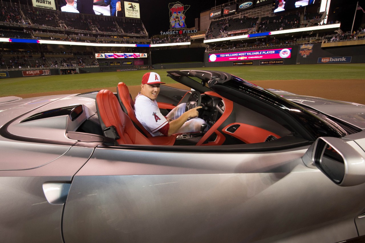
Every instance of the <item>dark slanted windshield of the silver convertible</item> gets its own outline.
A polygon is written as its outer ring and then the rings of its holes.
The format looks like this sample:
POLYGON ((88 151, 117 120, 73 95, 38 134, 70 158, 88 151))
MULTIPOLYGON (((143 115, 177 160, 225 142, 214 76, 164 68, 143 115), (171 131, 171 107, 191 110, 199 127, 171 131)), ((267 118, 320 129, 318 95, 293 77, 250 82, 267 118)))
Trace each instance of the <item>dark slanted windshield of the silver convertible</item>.
POLYGON ((307 140, 315 140, 320 136, 342 137, 347 134, 299 105, 242 78, 232 75, 230 80, 218 80, 210 87, 223 97, 269 117, 287 127, 294 135, 307 140))

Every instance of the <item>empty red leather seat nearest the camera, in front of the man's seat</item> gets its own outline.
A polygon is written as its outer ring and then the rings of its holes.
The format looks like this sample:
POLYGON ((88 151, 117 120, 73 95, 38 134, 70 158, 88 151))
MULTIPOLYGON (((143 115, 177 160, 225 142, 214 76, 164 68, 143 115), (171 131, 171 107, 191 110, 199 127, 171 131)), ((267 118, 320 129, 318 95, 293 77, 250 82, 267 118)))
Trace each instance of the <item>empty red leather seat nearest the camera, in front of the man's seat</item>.
POLYGON ((176 136, 146 138, 134 127, 129 116, 122 111, 117 97, 110 90, 100 90, 96 95, 96 109, 104 135, 115 139, 118 144, 174 144, 176 136))

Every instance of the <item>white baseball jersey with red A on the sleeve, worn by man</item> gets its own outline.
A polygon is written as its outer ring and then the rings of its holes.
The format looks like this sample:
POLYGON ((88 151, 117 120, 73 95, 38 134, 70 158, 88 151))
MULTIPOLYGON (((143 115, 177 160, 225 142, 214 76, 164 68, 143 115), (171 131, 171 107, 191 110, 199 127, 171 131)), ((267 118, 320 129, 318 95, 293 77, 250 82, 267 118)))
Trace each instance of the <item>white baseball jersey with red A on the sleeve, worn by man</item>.
POLYGON ((139 93, 135 98, 134 112, 137 120, 152 136, 163 135, 158 130, 164 127, 168 121, 161 114, 157 101, 139 93))

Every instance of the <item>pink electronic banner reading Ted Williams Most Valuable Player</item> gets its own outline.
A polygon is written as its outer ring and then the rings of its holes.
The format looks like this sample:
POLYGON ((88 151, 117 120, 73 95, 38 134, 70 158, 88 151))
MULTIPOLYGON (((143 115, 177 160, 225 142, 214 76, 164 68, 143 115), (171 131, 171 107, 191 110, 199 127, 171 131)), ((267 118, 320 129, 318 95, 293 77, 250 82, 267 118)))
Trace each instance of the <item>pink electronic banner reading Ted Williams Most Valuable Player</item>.
POLYGON ((209 62, 291 58, 291 53, 291 48, 217 53, 209 55, 209 62))

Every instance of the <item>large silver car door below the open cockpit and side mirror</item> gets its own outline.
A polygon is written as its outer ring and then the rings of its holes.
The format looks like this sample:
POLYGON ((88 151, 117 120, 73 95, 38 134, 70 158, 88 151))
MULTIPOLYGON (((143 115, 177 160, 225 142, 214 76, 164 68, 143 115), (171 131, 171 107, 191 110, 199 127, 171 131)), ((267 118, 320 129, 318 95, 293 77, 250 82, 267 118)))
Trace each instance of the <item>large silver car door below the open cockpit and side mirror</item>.
POLYGON ((357 193, 365 184, 333 184, 304 165, 306 149, 177 156, 96 148, 70 188, 65 242, 100 242, 105 235, 109 242, 337 242, 356 237, 354 216, 365 207, 357 193))

